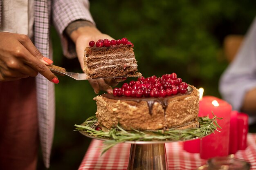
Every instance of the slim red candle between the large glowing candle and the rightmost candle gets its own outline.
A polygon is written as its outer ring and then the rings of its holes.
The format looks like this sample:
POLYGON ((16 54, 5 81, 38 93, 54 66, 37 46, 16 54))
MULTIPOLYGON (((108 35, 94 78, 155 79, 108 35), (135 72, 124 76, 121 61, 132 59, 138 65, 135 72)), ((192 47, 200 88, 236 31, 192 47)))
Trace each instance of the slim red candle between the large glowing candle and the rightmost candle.
POLYGON ((238 119, 237 111, 231 112, 229 132, 229 154, 235 154, 238 150, 238 119))

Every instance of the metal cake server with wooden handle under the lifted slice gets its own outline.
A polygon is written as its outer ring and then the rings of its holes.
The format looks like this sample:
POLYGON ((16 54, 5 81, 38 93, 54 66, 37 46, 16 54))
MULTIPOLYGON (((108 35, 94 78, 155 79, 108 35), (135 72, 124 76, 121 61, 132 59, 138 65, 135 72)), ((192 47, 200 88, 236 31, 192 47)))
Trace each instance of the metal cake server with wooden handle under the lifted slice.
MULTIPOLYGON (((92 78, 88 78, 88 75, 86 73, 72 73, 72 72, 68 72, 66 71, 65 68, 59 67, 59 66, 55 66, 55 65, 48 65, 48 68, 50 69, 50 71, 52 71, 52 73, 55 73, 57 75, 67 75, 69 77, 72 77, 73 79, 76 80, 88 80, 88 79, 92 79, 92 78)), ((129 76, 129 77, 139 77, 139 76, 129 76)), ((112 79, 112 78, 126 78, 126 77, 102 77, 101 79, 112 79)), ((94 78, 94 79, 99 79, 99 78, 94 78)))

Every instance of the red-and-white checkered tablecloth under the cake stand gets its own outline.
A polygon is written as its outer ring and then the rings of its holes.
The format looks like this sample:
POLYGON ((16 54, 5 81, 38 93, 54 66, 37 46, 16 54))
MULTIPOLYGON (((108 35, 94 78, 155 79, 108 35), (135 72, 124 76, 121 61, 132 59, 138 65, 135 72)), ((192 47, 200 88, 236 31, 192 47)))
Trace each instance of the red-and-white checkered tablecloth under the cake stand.
MULTIPOLYGON (((118 144, 100 156, 102 145, 102 141, 92 140, 79 170, 127 170, 130 144, 118 144)), ((195 170, 207 161, 199 153, 184 151, 183 142, 166 143, 165 147, 168 170, 195 170)), ((256 170, 256 134, 248 134, 246 150, 239 150, 235 158, 250 162, 251 170, 256 170)))

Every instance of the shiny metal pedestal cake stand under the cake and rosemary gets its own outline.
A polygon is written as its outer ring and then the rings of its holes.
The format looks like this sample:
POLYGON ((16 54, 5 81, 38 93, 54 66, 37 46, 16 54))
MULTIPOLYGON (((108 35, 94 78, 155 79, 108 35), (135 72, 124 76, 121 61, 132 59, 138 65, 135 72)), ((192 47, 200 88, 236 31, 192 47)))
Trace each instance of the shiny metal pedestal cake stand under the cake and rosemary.
MULTIPOLYGON (((90 136, 82 130, 79 130, 79 132, 92 139, 108 140, 90 136)), ((194 139, 198 139, 198 137, 189 140, 194 139)), ((131 144, 127 170, 168 170, 165 150, 165 143, 168 142, 177 141, 125 141, 124 143, 131 144)))

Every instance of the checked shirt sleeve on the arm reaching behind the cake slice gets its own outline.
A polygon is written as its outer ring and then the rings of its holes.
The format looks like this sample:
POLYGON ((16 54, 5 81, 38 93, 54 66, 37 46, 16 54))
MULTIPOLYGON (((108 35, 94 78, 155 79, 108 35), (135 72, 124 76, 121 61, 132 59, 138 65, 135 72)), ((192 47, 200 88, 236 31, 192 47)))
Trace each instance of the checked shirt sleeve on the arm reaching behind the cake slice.
POLYGON ((75 20, 94 20, 90 14, 90 3, 88 0, 54 0, 52 4, 52 21, 56 31, 61 37, 63 54, 67 58, 76 57, 75 44, 65 35, 65 28, 75 20))

